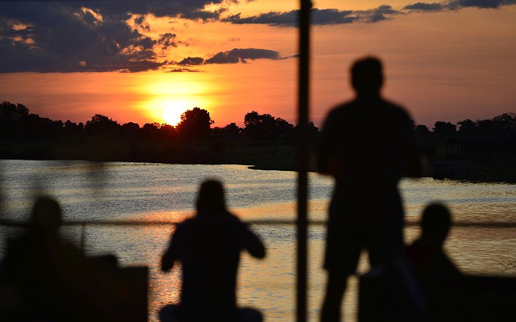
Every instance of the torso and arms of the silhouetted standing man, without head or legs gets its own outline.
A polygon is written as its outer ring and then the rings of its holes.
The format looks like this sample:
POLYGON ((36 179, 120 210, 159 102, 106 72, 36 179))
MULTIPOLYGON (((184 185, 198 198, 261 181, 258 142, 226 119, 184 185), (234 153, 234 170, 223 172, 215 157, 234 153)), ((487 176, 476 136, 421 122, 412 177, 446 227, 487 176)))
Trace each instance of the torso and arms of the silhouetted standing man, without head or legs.
POLYGON ((371 95, 330 112, 319 157, 323 164, 330 163, 324 166, 336 168, 337 185, 363 190, 395 186, 416 153, 408 114, 371 95))

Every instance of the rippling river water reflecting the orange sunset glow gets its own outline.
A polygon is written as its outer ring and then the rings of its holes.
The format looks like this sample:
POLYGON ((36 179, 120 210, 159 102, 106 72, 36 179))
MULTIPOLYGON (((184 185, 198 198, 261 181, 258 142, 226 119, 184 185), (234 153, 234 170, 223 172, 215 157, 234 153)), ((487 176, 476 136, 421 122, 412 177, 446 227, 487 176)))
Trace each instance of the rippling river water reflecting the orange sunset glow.
MULTIPOLYGON (((122 266, 150 268, 149 319, 158 309, 177 302, 180 268, 160 273, 158 263, 172 226, 151 225, 163 220, 182 220, 193 214, 199 184, 204 179, 223 181, 228 205, 242 220, 294 220, 295 172, 262 171, 242 165, 164 165, 130 162, 95 164, 81 161, 0 160, 1 215, 25 220, 34 196, 54 196, 64 210, 64 220, 139 220, 139 227, 89 226, 87 254, 115 254, 122 266)), ((332 180, 310 174, 310 220, 325 220, 332 180)), ((456 222, 516 223, 516 186, 503 183, 404 179, 400 183, 406 220, 417 222, 431 201, 447 203, 456 222)), ((267 246, 264 260, 242 256, 238 301, 260 309, 266 321, 293 321, 295 316, 295 226, 252 225, 267 246)), ((17 229, 0 230, 0 252, 4 239, 17 229)), ((418 234, 406 228, 406 241, 418 234)), ((64 227, 67 238, 78 242, 80 229, 64 227)), ((324 294, 324 226, 312 225, 309 232, 309 320, 317 321, 324 294)), ((500 264, 516 264, 516 228, 455 227, 446 249, 463 273, 512 275, 516 270, 500 264)), ((368 269, 363 254, 359 271, 368 269)), ((356 278, 344 300, 346 321, 354 321, 356 278)))

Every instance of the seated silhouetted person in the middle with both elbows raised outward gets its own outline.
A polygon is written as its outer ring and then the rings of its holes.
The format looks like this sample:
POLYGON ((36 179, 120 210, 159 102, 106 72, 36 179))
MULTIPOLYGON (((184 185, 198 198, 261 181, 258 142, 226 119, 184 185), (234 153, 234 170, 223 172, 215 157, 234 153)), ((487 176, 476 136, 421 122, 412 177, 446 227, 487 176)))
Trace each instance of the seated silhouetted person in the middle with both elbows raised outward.
POLYGON ((197 215, 177 225, 161 260, 163 271, 182 263, 181 302, 165 306, 161 321, 262 321, 259 311, 236 306, 242 249, 265 256, 262 241, 226 209, 221 183, 205 181, 197 215))

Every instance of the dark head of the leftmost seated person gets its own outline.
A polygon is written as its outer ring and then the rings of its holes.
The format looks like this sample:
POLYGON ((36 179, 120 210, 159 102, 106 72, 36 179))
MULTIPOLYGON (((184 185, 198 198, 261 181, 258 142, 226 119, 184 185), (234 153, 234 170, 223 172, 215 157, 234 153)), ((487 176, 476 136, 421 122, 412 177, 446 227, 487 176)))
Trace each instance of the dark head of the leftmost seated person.
POLYGON ((34 203, 30 225, 33 232, 46 236, 57 235, 62 223, 59 203, 50 197, 38 197, 34 203))

